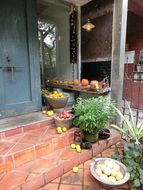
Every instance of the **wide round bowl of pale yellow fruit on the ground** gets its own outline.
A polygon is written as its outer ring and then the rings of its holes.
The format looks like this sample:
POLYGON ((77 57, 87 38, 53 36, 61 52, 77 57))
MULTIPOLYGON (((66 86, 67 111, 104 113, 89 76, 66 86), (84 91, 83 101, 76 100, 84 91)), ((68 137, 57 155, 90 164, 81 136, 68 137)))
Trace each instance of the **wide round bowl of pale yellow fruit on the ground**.
POLYGON ((126 166, 111 158, 93 159, 90 171, 95 179, 108 187, 123 185, 130 178, 126 166))

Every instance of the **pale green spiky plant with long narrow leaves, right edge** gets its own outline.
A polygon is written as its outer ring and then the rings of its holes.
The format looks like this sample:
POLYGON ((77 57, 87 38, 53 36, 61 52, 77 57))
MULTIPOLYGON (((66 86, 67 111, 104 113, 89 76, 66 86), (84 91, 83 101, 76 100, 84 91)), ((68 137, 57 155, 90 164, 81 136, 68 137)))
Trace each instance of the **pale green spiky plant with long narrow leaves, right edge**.
POLYGON ((135 141, 135 144, 140 144, 140 141, 143 140, 143 123, 137 124, 135 122, 132 109, 129 106, 128 102, 127 102, 127 106, 129 109, 129 115, 130 115, 129 118, 124 116, 119 109, 113 106, 115 111, 121 117, 121 123, 119 126, 112 124, 111 127, 120 131, 127 138, 127 140, 135 141))

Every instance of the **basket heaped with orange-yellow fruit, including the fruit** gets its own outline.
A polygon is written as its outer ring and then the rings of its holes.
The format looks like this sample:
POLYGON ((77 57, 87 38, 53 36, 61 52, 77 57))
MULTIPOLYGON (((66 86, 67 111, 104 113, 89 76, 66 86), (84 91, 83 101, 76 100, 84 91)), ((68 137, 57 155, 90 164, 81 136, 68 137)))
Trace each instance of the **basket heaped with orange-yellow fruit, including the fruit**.
POLYGON ((69 96, 63 92, 54 91, 46 96, 46 98, 50 106, 57 109, 64 108, 66 106, 69 96))

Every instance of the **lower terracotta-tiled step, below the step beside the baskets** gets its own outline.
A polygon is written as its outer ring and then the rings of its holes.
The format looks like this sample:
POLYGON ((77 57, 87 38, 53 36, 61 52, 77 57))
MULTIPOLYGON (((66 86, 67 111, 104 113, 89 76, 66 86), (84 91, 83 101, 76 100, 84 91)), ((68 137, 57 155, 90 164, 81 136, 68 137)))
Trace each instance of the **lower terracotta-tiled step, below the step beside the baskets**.
MULTIPOLYGON (((69 133, 69 131, 66 133, 69 133)), ((65 140, 62 135, 59 135, 59 139, 65 140)), ((90 150, 82 150, 81 153, 77 153, 71 149, 70 145, 63 146, 45 156, 1 174, 0 190, 36 190, 70 171, 73 166, 84 163, 100 154, 120 139, 119 133, 112 129, 109 139, 94 143, 90 150)))

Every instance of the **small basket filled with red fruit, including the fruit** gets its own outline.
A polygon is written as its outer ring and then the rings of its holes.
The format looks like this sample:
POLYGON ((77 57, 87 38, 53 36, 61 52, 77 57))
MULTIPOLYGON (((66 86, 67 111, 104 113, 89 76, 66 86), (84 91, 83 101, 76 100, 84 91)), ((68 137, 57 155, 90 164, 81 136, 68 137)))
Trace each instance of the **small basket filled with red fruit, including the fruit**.
POLYGON ((66 127, 68 129, 72 127, 73 119, 74 115, 66 110, 63 110, 54 116, 56 127, 66 127))

